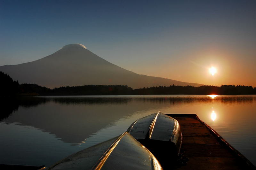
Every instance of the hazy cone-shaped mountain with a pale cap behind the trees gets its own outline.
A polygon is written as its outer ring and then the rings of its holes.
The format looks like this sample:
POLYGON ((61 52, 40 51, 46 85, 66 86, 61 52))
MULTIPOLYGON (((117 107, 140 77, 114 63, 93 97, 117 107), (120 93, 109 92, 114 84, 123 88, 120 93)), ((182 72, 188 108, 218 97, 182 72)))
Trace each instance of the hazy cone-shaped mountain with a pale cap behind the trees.
POLYGON ((116 66, 87 50, 82 44, 69 44, 57 52, 36 61, 0 66, 20 83, 35 83, 55 88, 80 85, 128 85, 133 89, 153 86, 201 86, 133 73, 116 66))

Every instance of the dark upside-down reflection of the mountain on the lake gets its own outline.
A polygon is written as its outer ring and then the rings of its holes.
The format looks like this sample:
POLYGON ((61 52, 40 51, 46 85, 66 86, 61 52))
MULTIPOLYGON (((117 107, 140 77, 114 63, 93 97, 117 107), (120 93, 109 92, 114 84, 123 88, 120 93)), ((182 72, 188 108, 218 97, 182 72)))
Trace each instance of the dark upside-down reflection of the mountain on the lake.
POLYGON ((70 145, 84 143, 91 135, 138 110, 159 109, 129 97, 30 97, 21 102, 18 114, 4 115, 3 122, 42 129, 70 145))

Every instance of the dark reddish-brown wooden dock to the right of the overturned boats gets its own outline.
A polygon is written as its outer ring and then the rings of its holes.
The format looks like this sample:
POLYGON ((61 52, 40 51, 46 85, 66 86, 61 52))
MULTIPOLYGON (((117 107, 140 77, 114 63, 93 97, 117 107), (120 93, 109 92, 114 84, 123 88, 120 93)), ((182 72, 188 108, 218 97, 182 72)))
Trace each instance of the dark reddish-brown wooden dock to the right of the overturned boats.
POLYGON ((236 170, 256 169, 196 114, 167 114, 179 121, 183 141, 181 150, 189 158, 186 166, 177 169, 236 170))

